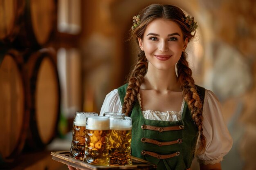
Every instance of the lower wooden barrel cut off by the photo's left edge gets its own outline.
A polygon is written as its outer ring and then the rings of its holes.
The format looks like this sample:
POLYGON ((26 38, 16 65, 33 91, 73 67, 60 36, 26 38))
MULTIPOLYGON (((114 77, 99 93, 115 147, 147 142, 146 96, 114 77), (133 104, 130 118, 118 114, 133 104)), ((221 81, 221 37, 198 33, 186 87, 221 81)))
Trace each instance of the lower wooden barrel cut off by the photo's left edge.
POLYGON ((12 162, 22 151, 29 123, 22 56, 0 51, 0 163, 12 162))

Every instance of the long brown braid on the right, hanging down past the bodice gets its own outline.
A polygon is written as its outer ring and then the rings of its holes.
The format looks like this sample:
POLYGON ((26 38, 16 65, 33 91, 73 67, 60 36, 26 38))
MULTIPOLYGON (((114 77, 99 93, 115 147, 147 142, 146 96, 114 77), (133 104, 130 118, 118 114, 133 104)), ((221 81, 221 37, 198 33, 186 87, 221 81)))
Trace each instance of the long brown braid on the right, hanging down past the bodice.
POLYGON ((194 120, 200 132, 200 147, 198 149, 198 152, 204 152, 206 146, 206 139, 203 135, 202 128, 202 101, 200 100, 200 97, 196 90, 194 79, 191 77, 192 71, 189 68, 189 63, 186 61, 184 52, 182 52, 181 58, 177 63, 177 67, 184 99, 189 106, 192 119, 194 120))

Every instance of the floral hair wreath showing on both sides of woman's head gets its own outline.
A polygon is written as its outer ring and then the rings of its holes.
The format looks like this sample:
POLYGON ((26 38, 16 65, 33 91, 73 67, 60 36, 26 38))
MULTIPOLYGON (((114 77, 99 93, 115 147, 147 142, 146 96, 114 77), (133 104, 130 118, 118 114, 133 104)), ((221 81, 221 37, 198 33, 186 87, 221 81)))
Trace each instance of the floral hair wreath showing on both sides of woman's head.
MULTIPOLYGON (((133 25, 132 25, 132 31, 134 31, 136 29, 136 27, 139 25, 140 23, 140 16, 136 15, 134 17, 132 17, 133 19, 133 25)), ((189 31, 193 32, 198 28, 198 24, 197 22, 195 22, 194 17, 191 17, 188 15, 186 16, 186 18, 181 18, 183 22, 185 22, 185 24, 189 27, 189 31)))

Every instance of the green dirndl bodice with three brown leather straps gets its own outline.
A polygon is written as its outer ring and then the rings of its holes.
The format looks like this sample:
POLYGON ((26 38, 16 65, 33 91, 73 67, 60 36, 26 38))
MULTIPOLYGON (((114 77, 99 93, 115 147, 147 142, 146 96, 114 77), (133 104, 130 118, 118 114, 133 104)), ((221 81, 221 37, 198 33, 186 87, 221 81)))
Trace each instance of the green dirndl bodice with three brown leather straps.
MULTIPOLYGON (((121 104, 124 104, 127 86, 125 84, 118 88, 121 104)), ((204 99, 205 89, 199 86, 197 88, 204 99)), ((186 170, 191 167, 199 133, 186 102, 179 121, 145 119, 138 100, 130 117, 132 156, 156 164, 158 170, 186 170)))

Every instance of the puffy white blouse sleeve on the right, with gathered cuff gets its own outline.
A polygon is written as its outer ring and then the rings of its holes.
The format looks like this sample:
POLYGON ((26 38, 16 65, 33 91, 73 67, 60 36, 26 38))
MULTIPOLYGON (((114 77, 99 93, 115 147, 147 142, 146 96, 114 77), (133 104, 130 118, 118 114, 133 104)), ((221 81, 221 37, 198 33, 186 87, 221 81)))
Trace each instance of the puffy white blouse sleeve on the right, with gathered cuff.
POLYGON ((203 116, 206 148, 203 154, 197 155, 198 161, 204 164, 219 163, 231 149, 233 140, 223 119, 220 102, 209 90, 205 91, 203 116))

